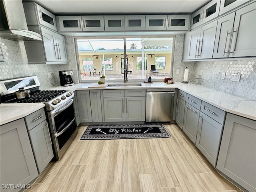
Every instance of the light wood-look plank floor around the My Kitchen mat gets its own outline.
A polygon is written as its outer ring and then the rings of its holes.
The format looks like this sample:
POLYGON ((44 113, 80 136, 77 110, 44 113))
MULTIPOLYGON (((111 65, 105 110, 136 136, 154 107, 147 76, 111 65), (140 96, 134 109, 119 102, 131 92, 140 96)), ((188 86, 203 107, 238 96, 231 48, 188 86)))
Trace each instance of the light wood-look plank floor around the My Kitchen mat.
POLYGON ((170 138, 80 140, 26 192, 242 192, 218 174, 176 124, 170 138))

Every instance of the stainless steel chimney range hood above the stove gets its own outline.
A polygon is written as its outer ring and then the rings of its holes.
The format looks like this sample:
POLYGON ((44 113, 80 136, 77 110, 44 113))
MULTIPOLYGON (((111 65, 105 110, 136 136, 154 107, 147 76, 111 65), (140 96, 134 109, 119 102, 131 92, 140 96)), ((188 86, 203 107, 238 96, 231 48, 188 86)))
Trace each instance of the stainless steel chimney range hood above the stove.
POLYGON ((28 30, 22 0, 0 0, 0 3, 0 38, 14 41, 42 41, 40 34, 28 30))

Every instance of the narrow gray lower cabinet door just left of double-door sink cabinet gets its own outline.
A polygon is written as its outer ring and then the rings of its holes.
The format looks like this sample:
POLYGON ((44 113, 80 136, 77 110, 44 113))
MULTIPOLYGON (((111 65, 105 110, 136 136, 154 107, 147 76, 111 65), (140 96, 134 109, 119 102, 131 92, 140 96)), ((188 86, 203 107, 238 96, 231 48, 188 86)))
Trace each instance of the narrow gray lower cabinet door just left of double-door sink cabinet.
POLYGON ((100 90, 90 90, 92 122, 102 122, 100 90))

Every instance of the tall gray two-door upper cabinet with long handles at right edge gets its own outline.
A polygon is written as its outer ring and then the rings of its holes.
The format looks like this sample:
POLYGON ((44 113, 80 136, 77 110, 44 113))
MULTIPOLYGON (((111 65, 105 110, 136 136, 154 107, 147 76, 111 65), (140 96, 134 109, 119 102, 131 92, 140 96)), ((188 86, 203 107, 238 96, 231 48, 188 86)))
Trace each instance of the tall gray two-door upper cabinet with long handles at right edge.
POLYGON ((256 3, 218 19, 214 58, 256 56, 256 3))

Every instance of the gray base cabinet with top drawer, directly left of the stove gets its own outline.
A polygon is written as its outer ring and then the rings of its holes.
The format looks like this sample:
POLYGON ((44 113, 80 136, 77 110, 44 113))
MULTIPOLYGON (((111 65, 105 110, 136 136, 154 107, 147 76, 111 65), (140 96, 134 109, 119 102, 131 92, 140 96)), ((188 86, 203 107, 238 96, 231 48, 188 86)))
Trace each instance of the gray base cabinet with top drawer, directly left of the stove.
POLYGON ((40 174, 54 157, 50 130, 46 122, 44 108, 33 112, 24 119, 36 160, 38 173, 40 174))

